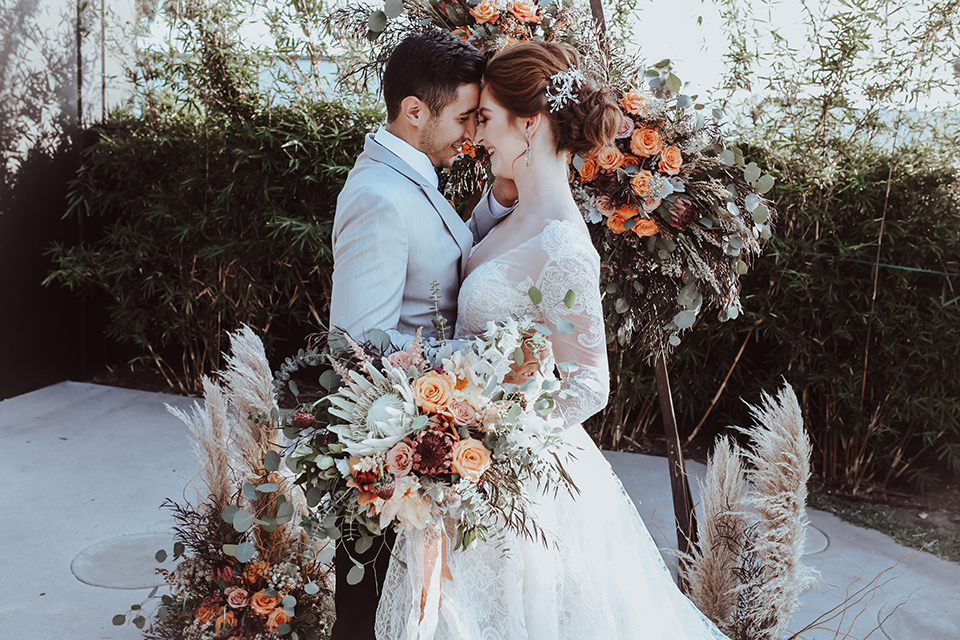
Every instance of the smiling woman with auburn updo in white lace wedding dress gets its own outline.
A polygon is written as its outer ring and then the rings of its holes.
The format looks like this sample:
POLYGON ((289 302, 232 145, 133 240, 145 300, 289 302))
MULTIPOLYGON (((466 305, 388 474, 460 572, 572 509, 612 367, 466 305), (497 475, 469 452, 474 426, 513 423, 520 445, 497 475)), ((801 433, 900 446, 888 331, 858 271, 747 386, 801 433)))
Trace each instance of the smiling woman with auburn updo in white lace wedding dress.
MULTIPOLYGON (((636 507, 581 423, 607 402, 600 260, 568 186, 569 154, 609 144, 620 124, 606 90, 586 80, 573 48, 527 42, 487 65, 477 143, 493 173, 515 181, 516 210, 478 244, 459 294, 457 337, 488 321, 541 317, 555 361, 576 397, 558 402, 576 459, 566 468, 579 495, 541 495, 532 516, 555 541, 476 541, 450 552, 452 580, 421 613, 423 572, 391 562, 381 597, 379 640, 701 640, 726 638, 678 590, 636 507), (531 286, 543 294, 539 307, 531 286), (576 303, 562 303, 568 290, 576 303), (561 333, 567 320, 576 331, 561 333), (411 615, 411 611, 414 612, 411 615), (420 614, 420 615, 418 615, 420 614)), ((549 365, 552 366, 552 363, 549 365)), ((400 536, 395 558, 416 558, 400 536)))

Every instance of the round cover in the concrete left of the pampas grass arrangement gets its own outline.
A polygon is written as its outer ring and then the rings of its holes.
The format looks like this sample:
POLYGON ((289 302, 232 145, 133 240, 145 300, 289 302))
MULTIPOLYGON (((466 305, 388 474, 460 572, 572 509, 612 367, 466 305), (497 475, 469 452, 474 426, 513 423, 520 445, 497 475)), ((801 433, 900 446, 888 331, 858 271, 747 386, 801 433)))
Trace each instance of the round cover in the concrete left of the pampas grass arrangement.
MULTIPOLYGON (((80 582, 107 589, 147 589, 164 584, 157 551, 173 549, 169 533, 132 533, 101 540, 77 554, 70 570, 80 582)), ((173 563, 164 563, 168 569, 173 563)))

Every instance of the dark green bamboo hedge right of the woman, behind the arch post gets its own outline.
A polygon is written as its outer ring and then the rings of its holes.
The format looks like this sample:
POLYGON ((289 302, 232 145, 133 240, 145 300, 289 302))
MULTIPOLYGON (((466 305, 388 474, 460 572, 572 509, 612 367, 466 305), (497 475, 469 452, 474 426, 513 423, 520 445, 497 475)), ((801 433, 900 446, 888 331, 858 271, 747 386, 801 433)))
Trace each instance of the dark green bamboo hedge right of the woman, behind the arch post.
MULTIPOLYGON (((701 421, 736 363, 700 433, 745 425, 741 398, 755 402, 783 377, 801 397, 827 482, 856 491, 867 482, 922 485, 938 471, 956 475, 957 171, 927 166, 920 152, 850 149, 824 187, 805 175, 801 160, 751 154, 778 174, 778 229, 742 279, 744 316, 693 331, 672 358, 681 432, 701 421)), ((624 437, 659 431, 659 416, 648 406, 650 368, 628 350, 611 355, 616 396, 593 427, 624 446, 624 437)))

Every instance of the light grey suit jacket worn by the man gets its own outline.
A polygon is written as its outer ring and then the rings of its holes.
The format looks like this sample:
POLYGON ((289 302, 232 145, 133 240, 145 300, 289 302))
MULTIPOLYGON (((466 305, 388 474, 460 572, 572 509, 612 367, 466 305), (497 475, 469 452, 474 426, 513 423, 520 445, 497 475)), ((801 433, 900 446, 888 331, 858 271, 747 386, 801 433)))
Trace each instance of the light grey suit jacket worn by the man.
POLYGON ((330 328, 358 339, 383 329, 399 347, 418 327, 436 336, 436 282, 452 333, 470 249, 497 222, 484 198, 464 223, 432 184, 368 135, 337 198, 330 328))

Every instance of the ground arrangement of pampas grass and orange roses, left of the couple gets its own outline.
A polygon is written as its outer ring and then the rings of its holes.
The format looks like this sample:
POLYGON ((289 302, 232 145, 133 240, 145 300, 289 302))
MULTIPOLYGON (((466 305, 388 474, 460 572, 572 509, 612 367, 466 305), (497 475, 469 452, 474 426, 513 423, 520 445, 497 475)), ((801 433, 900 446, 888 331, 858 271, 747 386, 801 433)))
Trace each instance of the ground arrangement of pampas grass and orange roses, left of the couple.
MULTIPOLYGON (((244 327, 231 335, 224 385, 204 379, 204 405, 170 408, 197 437, 204 497, 173 512, 172 569, 113 622, 164 640, 319 640, 334 620, 333 573, 325 550, 297 526, 302 505, 272 442, 279 419, 263 343, 244 327), (144 605, 159 598, 148 625, 144 605)), ((163 563, 168 554, 157 552, 163 563)))

